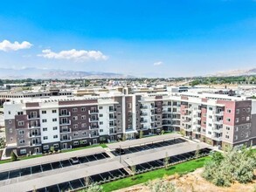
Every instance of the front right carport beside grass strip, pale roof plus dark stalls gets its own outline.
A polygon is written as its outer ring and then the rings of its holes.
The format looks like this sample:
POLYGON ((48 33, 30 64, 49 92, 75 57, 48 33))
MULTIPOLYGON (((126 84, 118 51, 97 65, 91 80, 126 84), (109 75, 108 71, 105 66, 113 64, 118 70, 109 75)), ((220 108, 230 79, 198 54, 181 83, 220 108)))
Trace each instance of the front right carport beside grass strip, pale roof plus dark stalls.
POLYGON ((145 172, 154 168, 160 168, 164 165, 164 158, 169 157, 169 163, 177 163, 180 161, 188 161, 195 157, 196 150, 199 154, 209 154, 211 152, 210 145, 200 142, 186 142, 177 144, 171 148, 161 151, 152 152, 150 154, 137 155, 135 157, 124 160, 129 167, 135 166, 136 172, 145 172))

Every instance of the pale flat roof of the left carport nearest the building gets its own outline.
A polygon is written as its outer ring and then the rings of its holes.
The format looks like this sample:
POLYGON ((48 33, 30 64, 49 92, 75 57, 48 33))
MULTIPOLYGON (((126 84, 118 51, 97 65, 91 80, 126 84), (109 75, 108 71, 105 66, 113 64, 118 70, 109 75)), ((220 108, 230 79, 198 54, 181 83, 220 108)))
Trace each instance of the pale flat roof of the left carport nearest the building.
POLYGON ((90 154, 100 154, 103 152, 105 152, 105 150, 102 147, 92 147, 92 148, 81 149, 73 152, 49 154, 42 157, 36 157, 33 159, 28 159, 23 161, 13 161, 9 163, 3 163, 0 166, 0 172, 9 171, 9 170, 18 169, 18 168, 27 168, 27 167, 41 165, 41 164, 54 162, 54 161, 66 160, 75 156, 86 156, 90 154))

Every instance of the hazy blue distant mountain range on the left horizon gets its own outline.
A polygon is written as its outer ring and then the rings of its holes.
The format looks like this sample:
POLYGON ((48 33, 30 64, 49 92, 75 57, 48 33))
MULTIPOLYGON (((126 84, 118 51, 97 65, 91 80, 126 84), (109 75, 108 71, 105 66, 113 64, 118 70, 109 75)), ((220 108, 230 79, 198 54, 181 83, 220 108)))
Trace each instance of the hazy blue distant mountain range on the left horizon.
POLYGON ((56 69, 6 69, 0 68, 0 79, 128 79, 134 78, 114 72, 75 72, 56 69))

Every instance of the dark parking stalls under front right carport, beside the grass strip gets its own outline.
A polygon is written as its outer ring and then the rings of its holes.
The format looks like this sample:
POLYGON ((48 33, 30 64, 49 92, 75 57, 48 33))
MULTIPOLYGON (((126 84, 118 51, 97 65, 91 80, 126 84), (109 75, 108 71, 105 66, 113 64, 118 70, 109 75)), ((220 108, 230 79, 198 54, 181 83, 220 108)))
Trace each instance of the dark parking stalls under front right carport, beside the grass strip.
MULTIPOLYGON (((209 154, 210 152, 211 152, 211 149, 209 149, 209 148, 204 148, 204 149, 199 150, 199 154, 201 154, 201 155, 209 154)), ((180 161, 190 160, 193 157, 195 157, 195 153, 196 153, 196 151, 191 151, 189 153, 177 154, 174 156, 170 156, 169 164, 177 163, 180 161)), ((149 171, 149 170, 152 170, 155 168, 163 167, 163 165, 164 165, 164 159, 159 159, 156 161, 149 161, 149 162, 135 165, 135 170, 136 170, 136 173, 142 173, 142 172, 146 172, 146 171, 149 171)))

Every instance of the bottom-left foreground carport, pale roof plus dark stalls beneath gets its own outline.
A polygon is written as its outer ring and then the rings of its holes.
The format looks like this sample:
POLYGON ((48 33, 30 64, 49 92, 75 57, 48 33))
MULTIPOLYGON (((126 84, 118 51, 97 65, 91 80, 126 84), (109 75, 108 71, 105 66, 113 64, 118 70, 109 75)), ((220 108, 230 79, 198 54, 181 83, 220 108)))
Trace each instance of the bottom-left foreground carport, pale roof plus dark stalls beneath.
POLYGON ((98 165, 79 168, 68 173, 59 173, 34 178, 24 182, 12 183, 0 187, 0 191, 66 191, 80 189, 86 186, 85 178, 91 182, 104 182, 106 179, 121 178, 128 175, 119 161, 104 162, 98 165))

